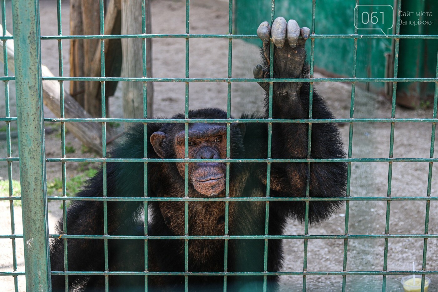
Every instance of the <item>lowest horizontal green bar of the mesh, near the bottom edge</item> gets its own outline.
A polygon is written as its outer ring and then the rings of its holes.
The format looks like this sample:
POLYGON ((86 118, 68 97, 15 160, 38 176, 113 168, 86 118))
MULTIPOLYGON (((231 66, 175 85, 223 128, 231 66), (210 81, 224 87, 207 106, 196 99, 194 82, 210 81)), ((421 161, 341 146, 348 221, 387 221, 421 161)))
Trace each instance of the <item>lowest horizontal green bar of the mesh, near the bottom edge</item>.
MULTIPOLYGON (((435 275, 438 271, 321 271, 321 272, 62 272, 52 271, 52 275, 125 275, 125 276, 342 276, 342 275, 435 275)), ((1 276, 1 273, 0 273, 1 276)))

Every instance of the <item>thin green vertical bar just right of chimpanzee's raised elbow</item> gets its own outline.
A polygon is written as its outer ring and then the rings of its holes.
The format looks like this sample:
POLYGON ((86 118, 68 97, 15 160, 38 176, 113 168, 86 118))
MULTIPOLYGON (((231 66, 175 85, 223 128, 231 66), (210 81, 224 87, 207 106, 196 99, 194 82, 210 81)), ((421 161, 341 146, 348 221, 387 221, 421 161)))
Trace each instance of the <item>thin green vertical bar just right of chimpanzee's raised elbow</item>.
MULTIPOLYGON (((359 5, 359 0, 356 0, 356 6, 359 5)), ((355 28, 354 34, 357 35, 357 16, 359 14, 358 9, 354 10, 354 19, 355 19, 355 28)), ((353 41, 353 78, 356 77, 356 68, 357 68, 357 38, 353 41)), ((351 82, 351 100, 350 100, 350 118, 354 117, 354 95, 356 93, 356 82, 351 82)), ((348 158, 351 158, 353 148, 353 122, 350 122, 350 129, 348 135, 348 158)), ((351 162, 348 163, 347 168, 347 192, 346 196, 350 196, 350 182, 351 181, 351 162)), ((350 217, 350 201, 345 202, 345 228, 344 235, 348 235, 348 223, 350 217)), ((347 271, 347 254, 348 254, 348 239, 344 239, 344 257, 343 257, 343 267, 342 271, 347 271)), ((346 275, 342 276, 342 292, 346 291, 346 275)))

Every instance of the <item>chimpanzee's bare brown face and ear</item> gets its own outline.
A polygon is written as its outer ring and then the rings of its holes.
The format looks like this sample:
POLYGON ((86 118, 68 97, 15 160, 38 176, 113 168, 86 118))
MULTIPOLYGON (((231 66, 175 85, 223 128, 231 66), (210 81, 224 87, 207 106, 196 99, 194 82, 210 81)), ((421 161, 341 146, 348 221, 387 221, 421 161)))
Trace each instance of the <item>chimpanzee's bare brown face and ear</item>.
MULTIPOLYGON (((151 143, 155 152, 162 158, 163 132, 151 135, 151 143)), ((223 159, 226 158, 226 127, 215 124, 192 124, 189 127, 188 157, 191 159, 223 159)), ((185 132, 175 136, 174 149, 177 158, 185 158, 185 132)), ((182 178, 185 177, 185 164, 177 163, 182 178)), ((220 162, 201 162, 188 164, 188 179, 194 189, 206 196, 217 196, 225 190, 226 167, 220 162)))

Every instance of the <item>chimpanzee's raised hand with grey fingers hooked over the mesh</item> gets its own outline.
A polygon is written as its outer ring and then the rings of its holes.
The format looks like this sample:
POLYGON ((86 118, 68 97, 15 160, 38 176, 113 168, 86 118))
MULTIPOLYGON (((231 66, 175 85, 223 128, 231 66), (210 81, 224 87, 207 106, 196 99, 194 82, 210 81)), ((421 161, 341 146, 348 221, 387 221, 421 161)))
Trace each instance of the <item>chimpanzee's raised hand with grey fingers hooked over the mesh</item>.
MULTIPOLYGON (((272 27, 268 21, 262 22, 257 29, 258 37, 263 41, 263 53, 265 56, 265 64, 257 65, 254 68, 254 78, 269 78, 270 64, 270 39, 274 43, 274 78, 301 78, 304 61, 306 59, 306 51, 304 45, 310 36, 310 29, 307 27, 300 28, 297 21, 291 19, 286 23, 283 17, 276 18, 272 23, 272 27), (299 37, 302 37, 300 39, 299 37)), ((269 84, 267 82, 259 83, 263 89, 268 91, 269 84)), ((299 90, 300 82, 295 82, 292 85, 299 90)), ((280 89, 278 82, 274 83, 274 90, 280 89), (278 86, 276 86, 278 85, 278 86)), ((287 86, 291 87, 291 85, 287 86)), ((282 90, 283 91, 283 90, 282 90)), ((289 90, 290 91, 290 90, 289 90)))

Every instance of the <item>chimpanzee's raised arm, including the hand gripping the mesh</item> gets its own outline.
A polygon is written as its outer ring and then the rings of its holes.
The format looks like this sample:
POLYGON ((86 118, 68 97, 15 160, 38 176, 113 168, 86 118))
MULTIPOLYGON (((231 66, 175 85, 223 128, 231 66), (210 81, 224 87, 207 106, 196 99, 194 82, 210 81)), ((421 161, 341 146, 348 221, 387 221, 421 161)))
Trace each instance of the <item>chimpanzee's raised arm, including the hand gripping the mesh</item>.
MULTIPOLYGON (((258 28, 257 34, 264 43, 264 64, 254 68, 254 77, 269 77, 269 39, 272 37, 274 43, 273 77, 308 78, 304 45, 310 35, 309 28, 300 28, 294 20, 286 23, 286 20, 280 17, 273 22, 272 28, 270 28, 268 22, 262 23, 258 28), (302 38, 299 39, 299 36, 302 38)), ((268 118, 269 85, 263 82, 259 84, 266 91, 264 118, 268 118)), ((309 118, 309 83, 274 82, 272 93, 272 118, 309 118)), ((312 118, 333 118, 331 111, 318 93, 313 93, 312 105, 312 118)), ((267 128, 267 126, 265 127, 267 128)), ((339 130, 335 124, 313 123, 311 130, 311 158, 345 157, 339 130)), ((265 147, 260 147, 264 152, 262 156, 266 156, 267 134, 261 138, 260 142, 265 145, 265 147)), ((308 124, 272 124, 272 158, 307 158, 307 142, 308 124)), ((247 147, 248 143, 245 144, 245 147, 247 147)), ((264 183, 266 183, 266 168, 266 165, 263 164, 259 164, 259 167, 256 168, 258 177, 264 183)), ((273 191, 271 196, 305 196, 308 178, 307 163, 274 163, 271 166, 270 187, 273 191)), ((310 196, 344 196, 345 189, 345 163, 311 164, 310 196)), ((339 202, 313 201, 310 203, 309 220, 311 222, 321 221, 328 217, 333 210, 336 210, 336 207, 339 207, 339 205, 339 202)), ((304 202, 280 202, 276 206, 279 212, 286 212, 299 220, 304 219, 304 202)))

